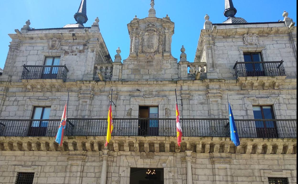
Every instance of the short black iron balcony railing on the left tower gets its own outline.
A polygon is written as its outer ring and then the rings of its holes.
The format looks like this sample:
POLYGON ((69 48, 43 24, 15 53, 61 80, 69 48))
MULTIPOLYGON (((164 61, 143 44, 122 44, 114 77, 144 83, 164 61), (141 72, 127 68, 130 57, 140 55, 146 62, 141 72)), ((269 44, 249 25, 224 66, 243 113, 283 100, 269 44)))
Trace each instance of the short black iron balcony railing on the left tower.
POLYGON ((65 65, 23 65, 21 79, 62 79, 66 81, 68 69, 65 65))

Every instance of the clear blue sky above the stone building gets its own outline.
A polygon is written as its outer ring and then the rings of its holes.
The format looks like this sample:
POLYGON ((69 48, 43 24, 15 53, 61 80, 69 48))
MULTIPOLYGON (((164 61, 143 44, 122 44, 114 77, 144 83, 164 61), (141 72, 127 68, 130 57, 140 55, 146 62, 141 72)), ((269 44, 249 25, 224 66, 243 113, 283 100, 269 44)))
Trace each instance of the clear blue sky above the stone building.
MULTIPOLYGON (((287 11, 289 17, 297 20, 297 1, 288 0, 234 0, 237 9, 236 17, 242 17, 248 22, 272 22, 283 20, 282 13, 287 11)), ((7 35, 21 30, 27 19, 30 27, 56 28, 65 24, 76 23, 73 15, 80 5, 80 0, 5 0, 1 1, 0 29, 0 67, 4 67, 8 45, 11 41, 7 35), (4 13, 4 14, 3 14, 4 13)), ((127 24, 137 15, 138 18, 148 16, 150 0, 87 0, 88 21, 84 24, 90 27, 94 19, 99 17, 100 32, 103 35, 110 55, 114 60, 117 47, 121 49, 122 59, 128 57, 129 35, 127 24)), ((156 17, 169 15, 175 22, 175 34, 172 39, 172 55, 180 57, 181 45, 184 45, 187 60, 193 62, 200 30, 204 25, 207 13, 212 23, 226 20, 224 0, 155 0, 156 17)))

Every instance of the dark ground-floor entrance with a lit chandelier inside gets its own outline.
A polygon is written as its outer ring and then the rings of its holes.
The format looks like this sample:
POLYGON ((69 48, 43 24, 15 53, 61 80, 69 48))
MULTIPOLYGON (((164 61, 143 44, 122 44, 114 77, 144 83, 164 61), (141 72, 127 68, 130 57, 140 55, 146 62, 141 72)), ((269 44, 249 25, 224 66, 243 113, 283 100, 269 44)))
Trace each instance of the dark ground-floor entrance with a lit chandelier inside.
POLYGON ((130 184, 164 184, 164 169, 131 168, 129 183, 130 184), (150 171, 150 173, 148 170, 150 171))

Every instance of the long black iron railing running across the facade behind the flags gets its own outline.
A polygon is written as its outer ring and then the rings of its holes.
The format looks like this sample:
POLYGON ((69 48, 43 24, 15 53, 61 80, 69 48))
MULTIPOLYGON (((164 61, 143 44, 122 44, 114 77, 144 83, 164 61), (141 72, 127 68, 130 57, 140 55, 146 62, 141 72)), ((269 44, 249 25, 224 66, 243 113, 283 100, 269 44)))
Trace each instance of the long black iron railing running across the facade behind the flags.
MULTIPOLYGON (((183 136, 229 137, 228 119, 180 119, 183 136)), ((176 119, 115 118, 112 136, 176 136, 176 119)), ((239 137, 296 138, 296 119, 235 120, 239 137)), ((55 136, 60 120, 0 119, 0 136, 55 136)), ((106 119, 68 119, 64 135, 104 136, 106 119)))

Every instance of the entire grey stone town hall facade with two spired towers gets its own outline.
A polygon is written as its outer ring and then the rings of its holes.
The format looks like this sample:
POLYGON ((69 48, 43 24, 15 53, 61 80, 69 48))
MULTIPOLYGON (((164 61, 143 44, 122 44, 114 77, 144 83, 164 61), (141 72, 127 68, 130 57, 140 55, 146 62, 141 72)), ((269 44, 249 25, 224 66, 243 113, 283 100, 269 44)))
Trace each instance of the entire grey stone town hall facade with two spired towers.
POLYGON ((231 0, 225 9, 221 24, 205 16, 193 62, 183 46, 179 59, 171 55, 174 22, 156 17, 154 0, 148 17, 128 24, 123 61, 119 48, 112 61, 99 18, 83 25, 86 0, 76 24, 31 29, 28 20, 9 34, 0 76, 0 183, 297 183, 295 22, 284 12, 283 21, 248 23, 235 17, 231 0), (68 90, 60 146, 55 134, 68 90), (229 138, 227 91, 240 146, 229 138), (105 147, 110 100, 114 132, 105 147))

